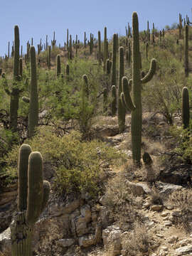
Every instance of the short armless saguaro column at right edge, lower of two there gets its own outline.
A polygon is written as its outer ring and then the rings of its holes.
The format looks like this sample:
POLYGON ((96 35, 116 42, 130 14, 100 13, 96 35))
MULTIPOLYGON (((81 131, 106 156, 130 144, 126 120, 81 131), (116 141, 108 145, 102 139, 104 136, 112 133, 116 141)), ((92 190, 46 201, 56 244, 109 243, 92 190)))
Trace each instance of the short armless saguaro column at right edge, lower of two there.
POLYGON ((186 129, 189 127, 189 99, 188 99, 188 88, 183 87, 182 90, 182 122, 183 128, 186 129))

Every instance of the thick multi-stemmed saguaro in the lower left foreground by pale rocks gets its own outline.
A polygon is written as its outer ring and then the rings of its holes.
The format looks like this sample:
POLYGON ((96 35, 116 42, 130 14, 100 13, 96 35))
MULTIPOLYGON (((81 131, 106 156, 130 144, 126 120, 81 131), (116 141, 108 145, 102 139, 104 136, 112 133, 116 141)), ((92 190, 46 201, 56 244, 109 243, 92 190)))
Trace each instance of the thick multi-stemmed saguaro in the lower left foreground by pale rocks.
POLYGON ((43 158, 23 144, 18 155, 18 212, 11 223, 11 255, 31 256, 33 227, 48 203, 50 183, 43 181, 43 158))

